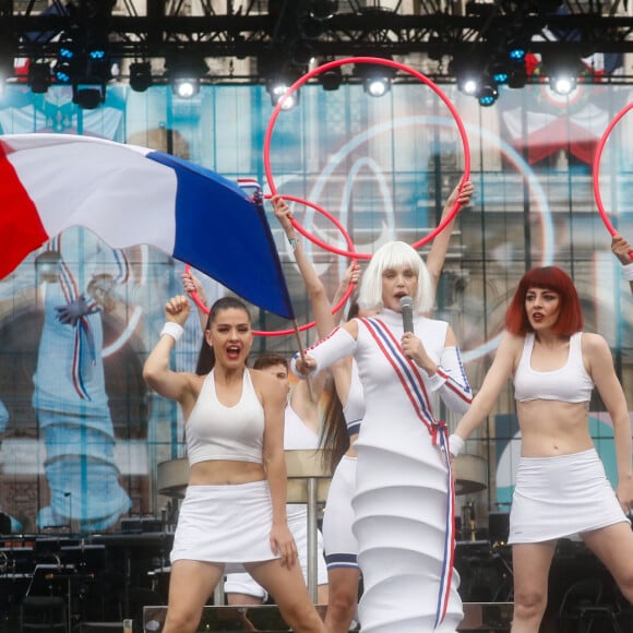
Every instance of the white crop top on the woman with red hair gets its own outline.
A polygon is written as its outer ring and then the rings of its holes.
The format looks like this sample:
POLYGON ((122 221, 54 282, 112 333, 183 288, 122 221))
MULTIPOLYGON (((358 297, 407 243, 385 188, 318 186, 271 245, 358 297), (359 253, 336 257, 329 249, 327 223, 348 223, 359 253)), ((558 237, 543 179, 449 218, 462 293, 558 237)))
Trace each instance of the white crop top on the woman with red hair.
POLYGON ((592 399, 594 381, 583 362, 582 338, 582 332, 570 337, 570 353, 563 367, 553 371, 535 371, 532 369, 534 333, 527 334, 514 373, 514 398, 519 403, 536 399, 585 403, 592 399))

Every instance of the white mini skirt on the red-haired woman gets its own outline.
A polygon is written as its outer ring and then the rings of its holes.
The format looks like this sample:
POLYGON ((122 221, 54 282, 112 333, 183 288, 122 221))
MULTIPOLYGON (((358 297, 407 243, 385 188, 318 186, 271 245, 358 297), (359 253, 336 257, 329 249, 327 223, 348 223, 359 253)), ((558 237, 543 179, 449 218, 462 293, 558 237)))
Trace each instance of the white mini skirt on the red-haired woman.
POLYGON ((521 458, 509 544, 544 542, 628 521, 594 449, 521 458))

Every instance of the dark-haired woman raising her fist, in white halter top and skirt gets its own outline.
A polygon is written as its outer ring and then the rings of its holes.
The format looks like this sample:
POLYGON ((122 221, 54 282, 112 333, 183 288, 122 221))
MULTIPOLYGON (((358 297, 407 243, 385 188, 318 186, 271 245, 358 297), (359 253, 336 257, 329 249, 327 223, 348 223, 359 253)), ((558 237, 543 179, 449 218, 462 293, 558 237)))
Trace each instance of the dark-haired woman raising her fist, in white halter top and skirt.
POLYGON ((286 521, 286 393, 267 373, 246 366, 253 334, 246 306, 225 297, 211 309, 205 344, 210 372, 177 372, 169 358, 190 313, 171 298, 160 339, 143 377, 177 401, 187 422, 190 475, 171 551, 164 633, 198 630, 202 609, 226 571, 247 570, 275 598, 295 631, 323 632, 297 564, 286 521))

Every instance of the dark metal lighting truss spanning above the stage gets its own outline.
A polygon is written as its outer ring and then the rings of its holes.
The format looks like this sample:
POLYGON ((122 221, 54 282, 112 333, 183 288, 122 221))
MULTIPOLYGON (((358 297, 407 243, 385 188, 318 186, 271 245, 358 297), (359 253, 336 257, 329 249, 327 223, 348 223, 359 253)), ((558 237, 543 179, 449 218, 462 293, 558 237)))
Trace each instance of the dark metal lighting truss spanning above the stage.
POLYGON ((69 33, 107 38, 118 58, 184 50, 205 58, 273 55, 296 65, 359 55, 486 57, 512 38, 541 53, 633 51, 633 15, 621 1, 55 0, 47 11, 43 4, 0 0, 0 57, 55 59, 69 33))

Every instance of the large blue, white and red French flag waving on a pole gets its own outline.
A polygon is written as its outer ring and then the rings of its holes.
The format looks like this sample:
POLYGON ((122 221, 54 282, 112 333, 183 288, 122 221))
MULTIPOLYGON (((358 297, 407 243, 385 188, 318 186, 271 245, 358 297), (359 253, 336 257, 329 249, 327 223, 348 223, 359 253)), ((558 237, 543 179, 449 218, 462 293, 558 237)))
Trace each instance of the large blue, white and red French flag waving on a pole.
POLYGON ((294 319, 261 195, 146 147, 70 134, 0 136, 0 278, 71 226, 153 244, 294 319))

